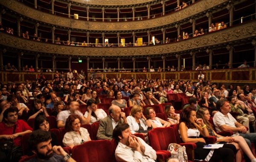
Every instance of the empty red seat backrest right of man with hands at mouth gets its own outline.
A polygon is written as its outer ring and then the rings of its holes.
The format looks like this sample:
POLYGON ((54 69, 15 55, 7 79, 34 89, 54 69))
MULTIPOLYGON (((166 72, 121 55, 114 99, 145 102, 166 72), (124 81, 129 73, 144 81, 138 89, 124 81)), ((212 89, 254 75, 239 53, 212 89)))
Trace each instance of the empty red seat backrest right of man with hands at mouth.
POLYGON ((167 150, 170 143, 177 143, 172 127, 154 128, 148 131, 148 139, 155 151, 167 150))

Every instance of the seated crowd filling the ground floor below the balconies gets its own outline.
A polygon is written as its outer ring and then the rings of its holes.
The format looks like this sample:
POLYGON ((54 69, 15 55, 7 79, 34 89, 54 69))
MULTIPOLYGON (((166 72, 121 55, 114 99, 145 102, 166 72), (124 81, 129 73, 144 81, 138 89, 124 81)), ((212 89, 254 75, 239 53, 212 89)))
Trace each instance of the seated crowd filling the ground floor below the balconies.
POLYGON ((175 82, 134 78, 86 81, 73 79, 70 73, 53 82, 39 77, 20 84, 0 84, 0 139, 14 142, 9 150, 0 150, 1 161, 20 159, 24 155, 22 136, 30 134, 30 153, 26 155, 36 156, 29 162, 49 158, 73 162, 66 148, 97 139, 116 141, 118 162, 154 162, 157 153, 149 145, 148 134, 177 125, 182 141, 196 144, 195 159, 256 162, 251 147, 256 142, 256 88, 226 88, 221 83, 205 82, 202 74, 198 82, 175 82), (182 99, 170 98, 178 96, 182 99), (61 141, 52 131, 54 125, 63 132, 61 141), (87 125, 98 125, 95 136, 87 125), (221 131, 233 135, 221 136, 221 131), (223 147, 205 149, 205 137, 209 136, 215 136, 223 147))

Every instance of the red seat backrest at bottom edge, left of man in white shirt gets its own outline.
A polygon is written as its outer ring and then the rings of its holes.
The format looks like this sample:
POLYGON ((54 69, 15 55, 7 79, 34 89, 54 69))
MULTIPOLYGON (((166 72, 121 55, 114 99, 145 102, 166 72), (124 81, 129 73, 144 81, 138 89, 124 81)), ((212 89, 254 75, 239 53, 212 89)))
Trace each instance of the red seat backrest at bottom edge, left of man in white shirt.
POLYGON ((76 162, 114 162, 115 152, 110 140, 88 141, 72 149, 76 162), (103 149, 104 148, 104 149, 103 149))

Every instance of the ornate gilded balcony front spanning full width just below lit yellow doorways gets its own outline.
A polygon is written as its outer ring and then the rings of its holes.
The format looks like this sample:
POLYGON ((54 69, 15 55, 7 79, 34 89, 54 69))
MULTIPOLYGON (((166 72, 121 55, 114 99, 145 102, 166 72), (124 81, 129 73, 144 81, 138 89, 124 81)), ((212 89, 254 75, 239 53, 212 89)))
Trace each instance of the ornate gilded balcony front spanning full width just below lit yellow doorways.
POLYGON ((214 33, 201 35, 177 43, 143 47, 74 47, 56 44, 46 44, 37 41, 14 37, 10 34, 0 33, 0 44, 21 50, 64 54, 75 56, 143 56, 156 54, 170 54, 187 51, 201 47, 229 43, 256 36, 256 21, 244 23, 240 26, 230 27, 214 33))

